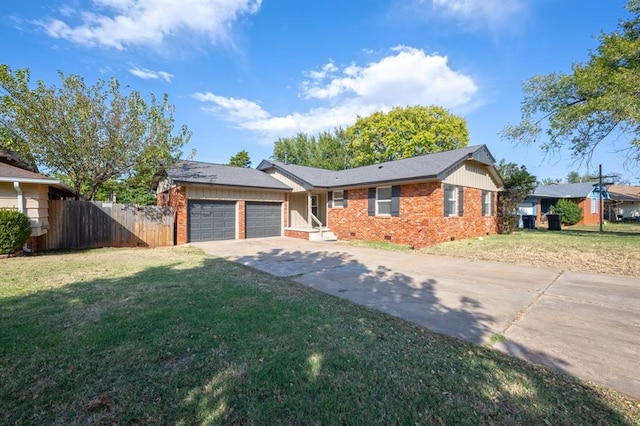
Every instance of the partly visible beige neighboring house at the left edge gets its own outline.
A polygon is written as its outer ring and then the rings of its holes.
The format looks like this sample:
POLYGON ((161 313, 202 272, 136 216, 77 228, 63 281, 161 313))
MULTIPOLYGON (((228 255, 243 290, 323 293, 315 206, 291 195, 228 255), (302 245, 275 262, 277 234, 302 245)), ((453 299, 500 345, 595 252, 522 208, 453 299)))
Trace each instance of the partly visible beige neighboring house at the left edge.
POLYGON ((71 195, 70 188, 59 180, 18 167, 21 163, 10 161, 10 156, 0 155, 0 208, 16 209, 31 221, 31 239, 49 229, 49 199, 71 195), (12 164, 9 164, 12 163, 12 164))

